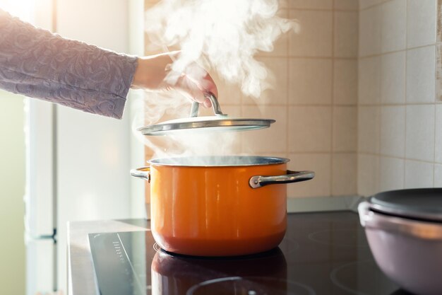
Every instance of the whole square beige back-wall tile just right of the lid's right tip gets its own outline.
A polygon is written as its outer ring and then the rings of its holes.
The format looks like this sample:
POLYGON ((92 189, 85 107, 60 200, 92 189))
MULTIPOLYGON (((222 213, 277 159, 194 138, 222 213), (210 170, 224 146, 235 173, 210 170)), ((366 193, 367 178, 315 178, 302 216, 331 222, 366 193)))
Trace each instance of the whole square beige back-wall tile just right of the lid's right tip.
POLYGON ((289 151, 330 151, 331 120, 331 107, 290 107, 289 151))

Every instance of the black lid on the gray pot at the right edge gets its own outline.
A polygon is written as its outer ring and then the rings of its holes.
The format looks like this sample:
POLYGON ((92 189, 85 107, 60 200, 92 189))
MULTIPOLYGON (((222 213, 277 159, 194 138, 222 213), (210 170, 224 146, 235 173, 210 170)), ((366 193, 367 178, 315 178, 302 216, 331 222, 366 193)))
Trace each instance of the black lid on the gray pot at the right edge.
POLYGON ((370 199, 371 209, 393 216, 442 222, 442 188, 380 192, 370 199))

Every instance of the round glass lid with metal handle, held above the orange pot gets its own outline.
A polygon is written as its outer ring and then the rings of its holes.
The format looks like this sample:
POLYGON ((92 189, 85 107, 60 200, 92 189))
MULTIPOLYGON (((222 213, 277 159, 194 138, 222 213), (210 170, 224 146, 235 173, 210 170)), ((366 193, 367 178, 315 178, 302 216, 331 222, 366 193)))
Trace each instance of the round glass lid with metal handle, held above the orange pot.
POLYGON ((169 120, 156 125, 148 125, 138 128, 143 135, 167 135, 172 132, 185 130, 194 131, 241 131, 270 127, 276 122, 273 119, 229 117, 221 111, 217 98, 213 93, 206 93, 210 99, 214 116, 198 117, 199 103, 193 102, 190 117, 183 119, 169 120))

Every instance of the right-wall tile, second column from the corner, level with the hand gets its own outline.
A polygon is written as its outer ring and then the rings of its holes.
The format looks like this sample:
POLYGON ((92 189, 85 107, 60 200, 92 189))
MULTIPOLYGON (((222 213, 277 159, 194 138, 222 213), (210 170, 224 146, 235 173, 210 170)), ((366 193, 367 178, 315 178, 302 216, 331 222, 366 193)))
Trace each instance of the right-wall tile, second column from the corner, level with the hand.
POLYGON ((405 103, 405 52, 381 57, 381 102, 405 103))

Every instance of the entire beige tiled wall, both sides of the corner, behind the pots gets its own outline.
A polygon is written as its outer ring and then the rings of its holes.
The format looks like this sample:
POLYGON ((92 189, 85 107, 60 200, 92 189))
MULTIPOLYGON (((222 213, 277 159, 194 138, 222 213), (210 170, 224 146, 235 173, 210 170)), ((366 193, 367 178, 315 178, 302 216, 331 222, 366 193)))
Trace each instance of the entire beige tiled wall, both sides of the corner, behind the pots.
POLYGON ((258 55, 275 88, 252 100, 217 79, 229 115, 277 120, 238 151, 315 170, 289 197, 442 186, 441 2, 282 2, 301 32, 258 55))

